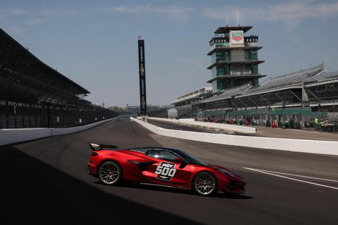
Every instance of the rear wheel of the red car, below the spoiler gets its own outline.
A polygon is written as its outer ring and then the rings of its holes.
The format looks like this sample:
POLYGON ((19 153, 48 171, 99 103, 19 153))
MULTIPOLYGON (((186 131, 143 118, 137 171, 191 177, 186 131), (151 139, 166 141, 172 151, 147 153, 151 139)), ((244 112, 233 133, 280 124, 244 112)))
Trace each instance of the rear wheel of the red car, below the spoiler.
POLYGON ((98 169, 98 177, 105 185, 116 185, 122 177, 122 169, 115 162, 104 162, 98 169))

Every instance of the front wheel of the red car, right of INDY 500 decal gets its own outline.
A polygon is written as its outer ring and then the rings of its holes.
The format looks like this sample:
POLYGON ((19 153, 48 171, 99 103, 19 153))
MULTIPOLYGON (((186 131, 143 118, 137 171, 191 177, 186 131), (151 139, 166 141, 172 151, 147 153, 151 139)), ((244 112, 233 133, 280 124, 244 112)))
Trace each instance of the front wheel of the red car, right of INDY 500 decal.
POLYGON ((194 191, 202 196, 210 196, 217 192, 217 178, 211 173, 202 172, 195 176, 193 180, 194 191))

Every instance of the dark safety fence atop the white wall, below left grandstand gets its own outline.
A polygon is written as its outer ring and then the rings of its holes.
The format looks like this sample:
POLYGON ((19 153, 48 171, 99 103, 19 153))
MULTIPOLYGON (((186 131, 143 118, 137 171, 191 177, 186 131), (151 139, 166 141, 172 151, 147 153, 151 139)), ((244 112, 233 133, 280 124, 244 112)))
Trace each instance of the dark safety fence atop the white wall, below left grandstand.
POLYGON ((118 116, 95 105, 86 107, 26 102, 0 102, 0 128, 68 128, 118 116))

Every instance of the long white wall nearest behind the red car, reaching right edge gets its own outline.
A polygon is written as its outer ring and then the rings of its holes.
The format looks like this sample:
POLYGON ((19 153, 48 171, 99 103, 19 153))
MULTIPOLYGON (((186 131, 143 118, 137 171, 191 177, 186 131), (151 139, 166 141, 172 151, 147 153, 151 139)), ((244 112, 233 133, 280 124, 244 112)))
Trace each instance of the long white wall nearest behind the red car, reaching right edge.
POLYGON ((162 136, 187 139, 192 141, 202 141, 223 145, 235 145, 251 148, 263 148, 273 150, 284 150, 294 152, 307 152, 318 154, 338 155, 338 142, 332 141, 314 141, 299 139, 282 139, 282 138, 263 138, 235 136, 228 134, 201 133, 183 130, 164 129, 149 123, 142 122, 138 119, 131 118, 143 127, 162 136))

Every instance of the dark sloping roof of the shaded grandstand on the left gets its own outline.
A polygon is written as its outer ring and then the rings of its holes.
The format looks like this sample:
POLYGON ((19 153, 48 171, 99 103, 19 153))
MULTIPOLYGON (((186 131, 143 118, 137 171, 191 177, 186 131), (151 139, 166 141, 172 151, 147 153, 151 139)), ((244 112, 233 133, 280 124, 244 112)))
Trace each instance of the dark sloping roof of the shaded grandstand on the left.
MULTIPOLYGON (((52 69, 50 66, 39 60, 32 53, 30 53, 26 48, 24 48, 20 43, 14 40, 10 35, 8 35, 4 30, 0 29, 0 60, 3 60, 5 63, 0 64, 0 70, 3 70, 6 67, 6 70, 11 73, 19 74, 19 68, 27 68, 28 66, 34 66, 35 73, 43 73, 43 76, 50 76, 50 82, 55 82, 58 85, 64 85, 67 87, 67 91, 74 94, 89 94, 90 92, 87 89, 81 87, 79 84, 70 80, 66 76, 60 74, 56 70, 52 69), (6 47, 6 48, 5 48, 6 47), (4 49, 9 49, 6 52, 4 49), (4 52, 3 52, 4 51, 4 52), (9 63, 12 63, 13 57, 16 57, 15 64, 10 66, 9 63)), ((34 71, 33 71, 34 72, 34 71)), ((32 72, 31 72, 32 73, 32 72)), ((29 76, 27 73, 25 76, 29 76)), ((3 81, 7 82, 7 81, 3 81)), ((12 82, 12 81, 11 81, 12 82)), ((19 83, 20 81, 15 81, 17 85, 23 86, 25 83, 19 83)))

